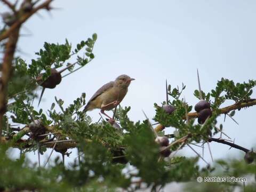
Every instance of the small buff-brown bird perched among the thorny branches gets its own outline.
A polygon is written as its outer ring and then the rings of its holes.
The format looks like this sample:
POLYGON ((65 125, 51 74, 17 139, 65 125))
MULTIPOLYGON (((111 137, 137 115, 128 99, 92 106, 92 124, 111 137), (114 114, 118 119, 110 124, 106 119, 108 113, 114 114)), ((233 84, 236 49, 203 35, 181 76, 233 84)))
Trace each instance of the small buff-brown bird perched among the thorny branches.
POLYGON ((93 109, 101 109, 100 112, 103 115, 106 115, 114 121, 114 119, 105 113, 105 110, 111 110, 119 105, 119 103, 124 99, 128 91, 128 87, 133 80, 135 79, 128 75, 120 75, 115 81, 111 81, 103 85, 96 93, 94 93, 83 111, 86 112, 93 109))

